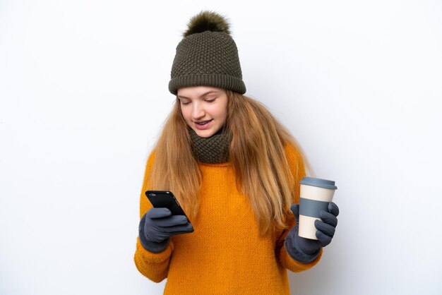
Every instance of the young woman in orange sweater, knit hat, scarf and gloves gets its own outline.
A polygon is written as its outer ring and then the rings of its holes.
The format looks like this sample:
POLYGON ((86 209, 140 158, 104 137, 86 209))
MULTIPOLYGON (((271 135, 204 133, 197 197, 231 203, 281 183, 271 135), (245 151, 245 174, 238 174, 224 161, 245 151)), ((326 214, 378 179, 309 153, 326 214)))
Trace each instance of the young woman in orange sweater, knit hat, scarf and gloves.
POLYGON ((287 269, 321 258, 338 223, 330 203, 318 240, 297 234, 299 181, 308 164, 290 133, 246 97, 225 18, 203 11, 177 46, 172 113, 146 165, 138 270, 165 294, 289 294, 287 269), (147 190, 172 191, 184 215, 154 208, 147 190))

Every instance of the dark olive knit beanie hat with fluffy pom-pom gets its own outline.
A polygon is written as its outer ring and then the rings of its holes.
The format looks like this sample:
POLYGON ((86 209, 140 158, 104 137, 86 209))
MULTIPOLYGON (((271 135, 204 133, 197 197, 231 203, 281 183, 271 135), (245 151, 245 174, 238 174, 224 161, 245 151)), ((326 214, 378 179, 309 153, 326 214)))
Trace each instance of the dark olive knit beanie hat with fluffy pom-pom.
POLYGON ((193 16, 172 64, 169 91, 179 88, 212 86, 246 92, 239 64, 237 44, 230 36, 229 23, 219 14, 201 11, 193 16))

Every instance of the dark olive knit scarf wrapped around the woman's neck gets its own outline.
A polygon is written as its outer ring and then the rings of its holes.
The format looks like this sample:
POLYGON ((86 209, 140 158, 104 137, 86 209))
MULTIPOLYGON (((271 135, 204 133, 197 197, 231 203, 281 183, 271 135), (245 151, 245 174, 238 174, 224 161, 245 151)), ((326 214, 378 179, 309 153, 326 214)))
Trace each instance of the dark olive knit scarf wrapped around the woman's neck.
POLYGON ((193 129, 189 129, 192 141, 193 155, 198 162, 215 164, 229 160, 230 135, 225 128, 209 138, 199 137, 193 129))

